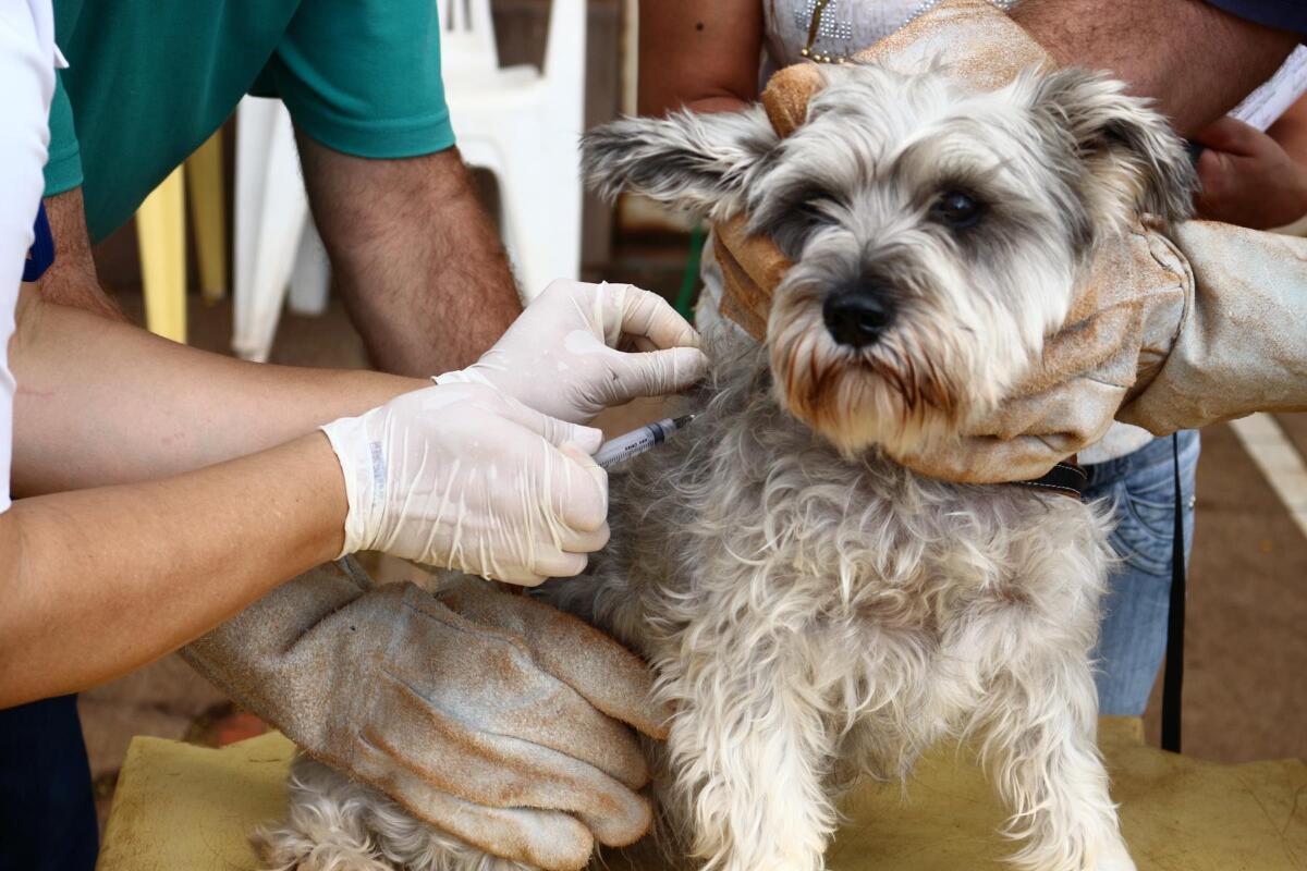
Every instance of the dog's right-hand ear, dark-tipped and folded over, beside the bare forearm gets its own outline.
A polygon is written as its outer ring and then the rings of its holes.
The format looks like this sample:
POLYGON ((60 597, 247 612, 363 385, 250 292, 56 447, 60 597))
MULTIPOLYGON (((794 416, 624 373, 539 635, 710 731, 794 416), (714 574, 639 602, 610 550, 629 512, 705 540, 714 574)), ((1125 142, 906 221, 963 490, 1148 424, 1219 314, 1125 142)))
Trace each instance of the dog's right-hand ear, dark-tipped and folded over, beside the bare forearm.
POLYGON ((1184 141, 1149 101, 1106 73, 1033 73, 1031 108, 1081 165, 1080 189, 1095 225, 1124 226, 1137 213, 1166 222, 1193 212, 1199 176, 1184 141))

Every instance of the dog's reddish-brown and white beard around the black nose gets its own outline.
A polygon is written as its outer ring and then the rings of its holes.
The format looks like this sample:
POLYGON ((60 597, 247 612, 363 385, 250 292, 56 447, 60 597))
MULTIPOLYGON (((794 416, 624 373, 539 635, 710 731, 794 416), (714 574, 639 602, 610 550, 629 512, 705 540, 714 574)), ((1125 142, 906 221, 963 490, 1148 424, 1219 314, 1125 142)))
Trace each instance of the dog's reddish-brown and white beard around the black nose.
POLYGON ((778 289, 769 353, 778 402, 846 456, 878 445, 891 456, 920 453, 967 434, 1027 376, 1046 324, 1070 299, 1070 264, 1031 257, 997 270, 937 264, 904 294, 895 324, 855 350, 827 332, 829 281, 797 264, 778 289))

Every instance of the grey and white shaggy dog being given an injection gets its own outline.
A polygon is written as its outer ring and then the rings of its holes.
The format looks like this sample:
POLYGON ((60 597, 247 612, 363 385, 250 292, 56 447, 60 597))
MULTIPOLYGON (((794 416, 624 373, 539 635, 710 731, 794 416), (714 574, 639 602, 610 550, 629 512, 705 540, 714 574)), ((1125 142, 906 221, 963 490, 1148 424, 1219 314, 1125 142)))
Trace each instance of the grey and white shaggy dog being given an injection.
MULTIPOLYGON (((971 91, 945 71, 822 67, 802 125, 761 107, 625 119, 588 178, 701 219, 749 215, 793 264, 765 342, 704 326, 693 428, 613 477, 610 546, 546 601, 639 650, 674 713, 657 756, 672 864, 818 871, 839 795, 967 738, 1029 871, 1127 871, 1090 652, 1110 507, 918 475, 887 454, 1000 407, 1140 213, 1189 212, 1183 142, 1085 71, 971 91)), ((302 760, 280 868, 491 871, 302 760), (345 834, 342 834, 345 833, 345 834)))

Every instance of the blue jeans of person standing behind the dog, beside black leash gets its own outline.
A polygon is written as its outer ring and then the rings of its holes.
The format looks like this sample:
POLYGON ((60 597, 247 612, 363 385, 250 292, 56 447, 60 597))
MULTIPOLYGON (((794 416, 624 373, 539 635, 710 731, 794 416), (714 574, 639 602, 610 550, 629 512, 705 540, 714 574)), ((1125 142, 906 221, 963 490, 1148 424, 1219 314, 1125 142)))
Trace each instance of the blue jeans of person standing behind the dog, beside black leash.
MULTIPOLYGON (((1182 432, 1180 492, 1184 560, 1193 548, 1193 486, 1199 434, 1182 432)), ((1112 550, 1121 558, 1103 598, 1103 623, 1094 650, 1098 705, 1103 714, 1142 716, 1166 654, 1175 538, 1175 478, 1171 439, 1154 439, 1134 453, 1085 466, 1085 499, 1116 505, 1112 550)))

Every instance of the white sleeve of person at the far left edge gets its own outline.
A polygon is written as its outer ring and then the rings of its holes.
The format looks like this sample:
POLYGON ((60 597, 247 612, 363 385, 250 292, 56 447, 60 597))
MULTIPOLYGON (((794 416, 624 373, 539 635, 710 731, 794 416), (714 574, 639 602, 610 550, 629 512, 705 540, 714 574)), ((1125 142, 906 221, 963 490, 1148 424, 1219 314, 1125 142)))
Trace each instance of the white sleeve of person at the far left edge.
POLYGON ((47 119, 55 93, 54 33, 50 0, 0 3, 0 511, 9 508, 13 456, 9 337, 44 189, 47 119))

